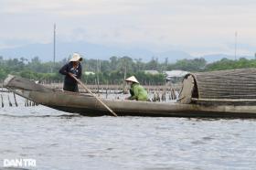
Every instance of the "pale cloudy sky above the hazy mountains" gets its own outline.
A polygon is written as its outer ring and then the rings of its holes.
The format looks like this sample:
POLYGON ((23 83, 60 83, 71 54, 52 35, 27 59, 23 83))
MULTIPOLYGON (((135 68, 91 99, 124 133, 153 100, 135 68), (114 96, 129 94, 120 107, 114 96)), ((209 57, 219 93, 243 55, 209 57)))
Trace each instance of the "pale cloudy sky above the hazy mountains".
POLYGON ((0 0, 0 49, 51 43, 56 23, 58 42, 254 56, 255 19, 255 0, 0 0))

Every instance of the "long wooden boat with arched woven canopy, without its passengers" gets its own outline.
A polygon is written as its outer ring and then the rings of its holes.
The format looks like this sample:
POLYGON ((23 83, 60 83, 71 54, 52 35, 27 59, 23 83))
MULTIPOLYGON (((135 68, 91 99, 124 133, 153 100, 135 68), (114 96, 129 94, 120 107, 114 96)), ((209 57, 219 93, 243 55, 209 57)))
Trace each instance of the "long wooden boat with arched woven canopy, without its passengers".
MULTIPOLYGON (((5 79, 4 86, 30 101, 59 111, 76 112, 85 116, 112 115, 88 94, 50 89, 32 80, 12 75, 5 79)), ((256 69, 189 73, 183 80, 179 100, 175 103, 101 100, 119 116, 254 118, 256 69), (243 82, 231 83, 232 80, 243 82)))

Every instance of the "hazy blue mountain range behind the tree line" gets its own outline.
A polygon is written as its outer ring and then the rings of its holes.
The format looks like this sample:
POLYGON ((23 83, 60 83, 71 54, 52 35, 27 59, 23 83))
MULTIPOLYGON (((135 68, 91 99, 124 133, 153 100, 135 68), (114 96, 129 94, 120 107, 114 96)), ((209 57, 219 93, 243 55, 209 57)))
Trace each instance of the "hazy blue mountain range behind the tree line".
MULTIPOLYGON (((164 62, 168 58, 169 62, 176 62, 177 59, 183 58, 200 58, 189 55, 187 52, 178 50, 169 50, 163 52, 154 52, 145 48, 129 48, 129 47, 107 47, 98 44, 86 42, 58 43, 56 46, 56 60, 68 58, 73 52, 79 52, 85 58, 109 59, 112 56, 131 58, 142 58, 143 61, 149 61, 152 58, 158 58, 160 62, 164 62)), ((3 48, 0 49, 0 56, 4 58, 40 58, 42 61, 53 60, 53 45, 52 44, 29 44, 18 48, 3 48)), ((234 59, 233 56, 224 54, 212 54, 202 56, 208 62, 214 62, 221 58, 234 59)), ((253 58, 253 57, 245 57, 253 58)))

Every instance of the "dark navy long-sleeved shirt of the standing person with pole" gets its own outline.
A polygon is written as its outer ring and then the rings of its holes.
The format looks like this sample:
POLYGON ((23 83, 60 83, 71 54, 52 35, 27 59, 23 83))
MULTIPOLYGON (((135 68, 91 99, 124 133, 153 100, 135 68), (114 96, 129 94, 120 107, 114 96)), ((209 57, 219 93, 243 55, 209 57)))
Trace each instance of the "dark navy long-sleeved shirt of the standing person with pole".
POLYGON ((73 78, 71 78, 68 73, 72 73, 72 74, 74 74, 74 76, 76 78, 80 79, 81 70, 82 70, 82 68, 81 68, 80 63, 77 66, 77 68, 73 68, 73 63, 69 62, 69 63, 65 64, 61 69, 59 69, 59 73, 62 75, 65 75, 64 83, 69 84, 69 85, 76 85, 77 81, 74 80, 73 78))

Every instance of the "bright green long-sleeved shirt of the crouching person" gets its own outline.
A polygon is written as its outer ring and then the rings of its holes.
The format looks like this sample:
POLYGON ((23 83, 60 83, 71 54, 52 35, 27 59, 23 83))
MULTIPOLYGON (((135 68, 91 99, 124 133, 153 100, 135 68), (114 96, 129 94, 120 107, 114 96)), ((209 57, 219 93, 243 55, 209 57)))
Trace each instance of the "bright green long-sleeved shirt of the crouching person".
POLYGON ((130 93, 132 96, 129 100, 147 101, 147 91, 138 83, 132 84, 130 93))

